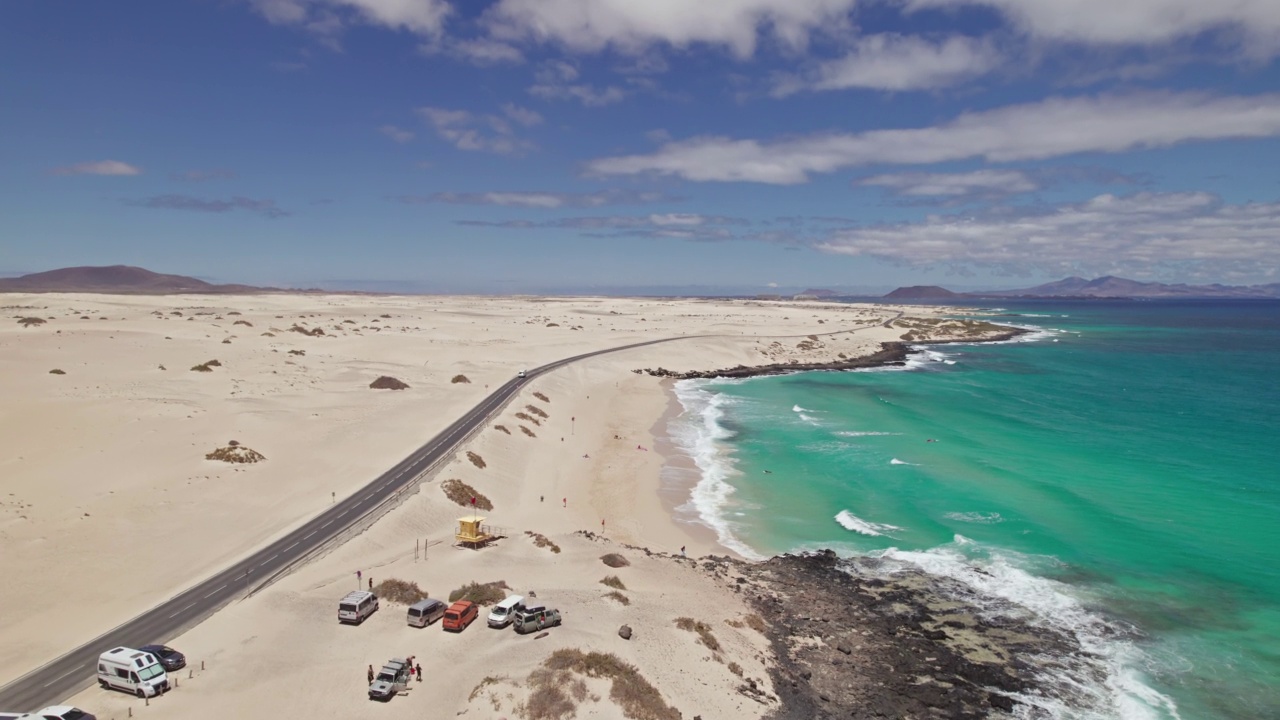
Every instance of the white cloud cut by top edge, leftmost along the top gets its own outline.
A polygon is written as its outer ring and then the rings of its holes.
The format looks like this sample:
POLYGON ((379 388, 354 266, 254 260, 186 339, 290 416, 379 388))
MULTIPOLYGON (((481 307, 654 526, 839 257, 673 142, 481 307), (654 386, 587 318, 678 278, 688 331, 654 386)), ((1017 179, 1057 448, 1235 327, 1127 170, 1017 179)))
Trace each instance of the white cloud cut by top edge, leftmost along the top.
POLYGON ((300 26, 323 40, 349 24, 381 26, 434 37, 452 13, 447 0, 248 0, 268 22, 300 26))

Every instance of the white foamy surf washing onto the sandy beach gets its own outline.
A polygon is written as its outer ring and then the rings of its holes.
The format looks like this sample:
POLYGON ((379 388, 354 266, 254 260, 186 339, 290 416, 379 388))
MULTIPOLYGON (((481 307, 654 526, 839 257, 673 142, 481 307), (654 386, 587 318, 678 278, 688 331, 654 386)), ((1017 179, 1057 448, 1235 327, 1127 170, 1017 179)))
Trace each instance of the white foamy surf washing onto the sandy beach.
POLYGON ((668 427, 672 442, 692 459, 699 480, 690 492, 689 505, 698 518, 716 532, 721 544, 744 557, 763 559, 733 533, 735 524, 727 519, 735 488, 730 480, 739 475, 736 460, 723 441, 733 433, 721 425, 728 396, 703 389, 705 380, 680 380, 675 386, 676 398, 685 411, 668 427))

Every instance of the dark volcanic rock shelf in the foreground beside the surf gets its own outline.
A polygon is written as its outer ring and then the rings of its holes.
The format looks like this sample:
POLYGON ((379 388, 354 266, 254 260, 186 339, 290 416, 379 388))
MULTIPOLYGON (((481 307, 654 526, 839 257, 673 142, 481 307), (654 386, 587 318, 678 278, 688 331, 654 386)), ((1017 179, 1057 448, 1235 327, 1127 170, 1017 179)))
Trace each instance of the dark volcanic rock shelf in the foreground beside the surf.
POLYGON ((1074 637, 1025 614, 993 618, 948 578, 831 551, 730 565, 773 648, 772 720, 1006 716, 1009 694, 1052 694, 1041 662, 1071 683, 1101 682, 1074 637))

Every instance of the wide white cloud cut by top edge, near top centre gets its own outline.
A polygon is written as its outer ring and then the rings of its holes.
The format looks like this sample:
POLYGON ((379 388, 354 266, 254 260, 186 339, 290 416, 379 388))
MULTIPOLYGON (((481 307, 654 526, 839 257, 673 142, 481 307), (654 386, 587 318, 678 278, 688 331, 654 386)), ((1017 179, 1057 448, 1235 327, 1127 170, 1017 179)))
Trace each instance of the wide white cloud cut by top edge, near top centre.
POLYGON ((814 31, 849 26, 856 0, 499 0, 485 14, 494 37, 557 42, 573 51, 639 54, 653 45, 721 45, 740 58, 758 35, 804 47, 814 31))

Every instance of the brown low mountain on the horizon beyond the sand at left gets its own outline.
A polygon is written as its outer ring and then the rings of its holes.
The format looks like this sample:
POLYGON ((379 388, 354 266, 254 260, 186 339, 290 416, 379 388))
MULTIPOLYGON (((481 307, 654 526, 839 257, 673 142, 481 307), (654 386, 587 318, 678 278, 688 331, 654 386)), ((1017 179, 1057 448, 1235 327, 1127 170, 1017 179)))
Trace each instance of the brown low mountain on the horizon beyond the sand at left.
POLYGON ((61 268, 0 278, 0 292, 105 292, 120 295, 243 293, 276 288, 212 284, 186 275, 152 273, 131 265, 61 268))

